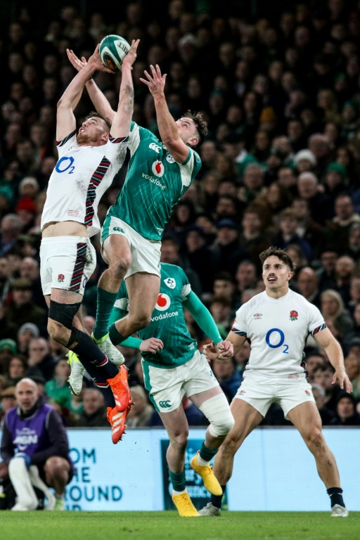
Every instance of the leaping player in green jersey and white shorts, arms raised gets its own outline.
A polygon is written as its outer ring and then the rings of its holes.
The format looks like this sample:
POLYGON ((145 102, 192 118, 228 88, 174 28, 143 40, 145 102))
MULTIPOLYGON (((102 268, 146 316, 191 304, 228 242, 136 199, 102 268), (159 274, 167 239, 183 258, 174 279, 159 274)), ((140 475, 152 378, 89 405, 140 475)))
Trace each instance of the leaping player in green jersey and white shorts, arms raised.
MULTIPOLYGON (((73 53, 78 70, 86 65, 73 53)), ((120 343, 150 323, 160 288, 162 233, 179 202, 200 170, 198 148, 207 134, 200 113, 190 111, 175 122, 165 98, 165 79, 158 65, 150 65, 140 79, 154 98, 160 139, 148 129, 131 123, 129 169, 115 204, 110 207, 101 232, 102 255, 108 263, 98 281, 94 340, 99 347, 120 343), (111 310, 122 279, 131 299, 129 314, 116 321, 108 335, 111 310)), ((115 114, 94 80, 86 89, 98 113, 111 121, 115 114)))

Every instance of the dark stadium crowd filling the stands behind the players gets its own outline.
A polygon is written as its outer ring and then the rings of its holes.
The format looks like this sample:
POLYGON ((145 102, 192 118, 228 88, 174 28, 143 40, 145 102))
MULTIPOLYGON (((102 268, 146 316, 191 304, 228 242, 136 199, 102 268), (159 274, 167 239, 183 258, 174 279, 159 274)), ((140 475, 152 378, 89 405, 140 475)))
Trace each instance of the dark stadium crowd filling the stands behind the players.
MULTIPOLYGON (((227 4, 226 4, 227 5, 227 4)), ((155 108, 139 81, 150 64, 167 73, 175 118, 200 110, 209 134, 203 167, 174 208, 162 262, 178 264, 209 307, 223 339, 236 309, 264 290, 259 253, 285 249, 297 269, 290 287, 314 303, 345 354, 354 387, 332 385, 333 368, 314 340, 307 370, 324 425, 360 425, 360 6, 353 0, 300 1, 276 18, 212 13, 211 2, 172 0, 153 18, 146 3, 125 3, 122 18, 64 6, 39 27, 22 8, 8 25, 0 86, 0 396, 15 404, 24 376, 41 387, 65 425, 108 425, 105 403, 90 378, 70 393, 67 349, 49 339, 39 278, 40 217, 56 165, 56 104, 75 70, 66 49, 89 58, 106 34, 140 38, 133 79, 133 119, 157 132, 155 108)), ((120 78, 97 72, 113 108, 120 78)), ((91 109, 80 101, 81 122, 91 109)), ((101 223, 122 186, 126 165, 99 205, 101 223)), ((91 333, 96 284, 105 269, 98 236, 97 266, 84 294, 91 333)), ((190 314, 188 329, 206 341, 190 314)), ((143 390, 141 358, 120 347, 134 387, 129 426, 160 425, 143 390)), ((242 380, 250 345, 212 369, 229 401, 242 380)), ((184 401, 191 425, 207 423, 184 401)), ((287 425, 273 406, 263 421, 287 425)))

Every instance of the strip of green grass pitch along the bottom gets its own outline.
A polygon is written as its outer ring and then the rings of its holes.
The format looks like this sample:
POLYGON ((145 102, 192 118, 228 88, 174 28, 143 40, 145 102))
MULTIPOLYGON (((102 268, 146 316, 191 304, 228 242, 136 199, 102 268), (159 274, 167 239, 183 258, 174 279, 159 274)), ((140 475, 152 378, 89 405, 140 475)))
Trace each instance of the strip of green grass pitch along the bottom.
POLYGON ((360 513, 225 512, 179 518, 175 512, 1 512, 4 540, 359 540, 360 513))

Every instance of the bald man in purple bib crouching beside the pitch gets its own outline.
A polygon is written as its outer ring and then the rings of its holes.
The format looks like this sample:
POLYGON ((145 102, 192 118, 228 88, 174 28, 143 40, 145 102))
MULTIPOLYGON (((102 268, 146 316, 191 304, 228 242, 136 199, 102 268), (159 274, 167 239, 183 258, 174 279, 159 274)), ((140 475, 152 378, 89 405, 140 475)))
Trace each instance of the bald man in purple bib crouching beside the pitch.
POLYGON ((65 486, 72 478, 73 467, 63 423, 44 403, 34 381, 20 380, 15 396, 18 407, 6 413, 1 439, 1 458, 8 465, 17 495, 13 510, 37 508, 34 487, 44 492, 47 510, 65 510, 65 486), (29 432, 36 437, 27 437, 29 432), (55 497, 48 487, 55 489, 55 497))

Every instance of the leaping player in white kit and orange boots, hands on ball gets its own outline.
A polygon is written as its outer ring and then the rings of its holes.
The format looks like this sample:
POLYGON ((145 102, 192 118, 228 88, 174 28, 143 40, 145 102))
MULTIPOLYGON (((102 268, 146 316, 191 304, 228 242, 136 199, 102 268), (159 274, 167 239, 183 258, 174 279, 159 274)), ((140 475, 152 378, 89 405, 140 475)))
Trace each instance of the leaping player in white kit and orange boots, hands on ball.
POLYGON ((86 281, 96 266, 90 237, 100 231, 98 201, 126 156, 134 106, 131 65, 138 45, 139 40, 132 41, 123 61, 119 103, 110 129, 103 117, 94 113, 76 132, 73 112, 94 72, 110 72, 101 62, 99 46, 60 98, 56 117, 59 159, 49 179, 41 216, 41 286, 49 306, 49 335, 77 353, 108 406, 122 414, 131 406, 124 357, 106 340, 96 346, 84 331, 81 304, 86 281))

